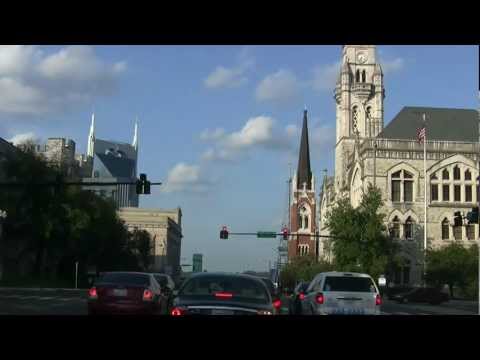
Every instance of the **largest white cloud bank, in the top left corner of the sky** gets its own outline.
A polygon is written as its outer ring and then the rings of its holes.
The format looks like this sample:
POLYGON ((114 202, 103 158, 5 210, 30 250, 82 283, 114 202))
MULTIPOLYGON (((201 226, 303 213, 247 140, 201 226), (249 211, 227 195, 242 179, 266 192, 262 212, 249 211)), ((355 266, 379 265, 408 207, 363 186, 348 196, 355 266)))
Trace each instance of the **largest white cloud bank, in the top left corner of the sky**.
POLYGON ((91 46, 51 54, 39 46, 0 46, 0 112, 56 113, 111 95, 126 66, 104 62, 91 46))

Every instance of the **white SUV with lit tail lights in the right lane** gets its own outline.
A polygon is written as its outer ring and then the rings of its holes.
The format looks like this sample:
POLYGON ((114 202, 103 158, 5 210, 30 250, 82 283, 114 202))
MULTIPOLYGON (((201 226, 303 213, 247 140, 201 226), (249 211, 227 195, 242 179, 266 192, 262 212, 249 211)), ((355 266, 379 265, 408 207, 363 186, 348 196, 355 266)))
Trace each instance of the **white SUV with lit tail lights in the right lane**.
POLYGON ((302 302, 304 315, 380 315, 382 298, 367 274, 324 272, 312 280, 302 302))

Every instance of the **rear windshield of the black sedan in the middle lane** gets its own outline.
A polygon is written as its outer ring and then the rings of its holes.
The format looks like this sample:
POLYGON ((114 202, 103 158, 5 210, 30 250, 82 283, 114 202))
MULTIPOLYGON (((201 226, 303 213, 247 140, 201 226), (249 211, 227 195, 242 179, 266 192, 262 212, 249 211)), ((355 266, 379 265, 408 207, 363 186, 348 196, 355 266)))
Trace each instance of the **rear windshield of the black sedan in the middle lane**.
POLYGON ((254 300, 268 303, 267 289, 262 283, 245 278, 227 276, 202 276, 188 280, 180 290, 180 296, 215 297, 217 292, 232 294, 232 301, 254 300))

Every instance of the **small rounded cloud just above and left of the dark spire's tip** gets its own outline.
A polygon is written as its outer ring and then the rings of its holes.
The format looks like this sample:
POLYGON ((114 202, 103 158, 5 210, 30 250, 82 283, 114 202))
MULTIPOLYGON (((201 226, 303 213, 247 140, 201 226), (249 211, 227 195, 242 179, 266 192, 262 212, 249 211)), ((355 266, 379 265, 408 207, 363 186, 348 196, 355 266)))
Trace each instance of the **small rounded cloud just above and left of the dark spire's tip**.
POLYGON ((281 69, 266 76, 257 86, 257 101, 290 101, 298 96, 300 83, 289 70, 281 69))

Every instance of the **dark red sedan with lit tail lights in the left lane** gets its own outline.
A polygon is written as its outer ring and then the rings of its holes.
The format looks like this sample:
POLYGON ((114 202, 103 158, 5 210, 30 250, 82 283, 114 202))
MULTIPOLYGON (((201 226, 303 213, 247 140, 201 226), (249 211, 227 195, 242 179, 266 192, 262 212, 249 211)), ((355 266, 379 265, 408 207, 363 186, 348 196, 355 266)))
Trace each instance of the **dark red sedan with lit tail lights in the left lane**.
POLYGON ((164 299, 152 274, 107 272, 88 292, 88 314, 167 314, 164 299))

